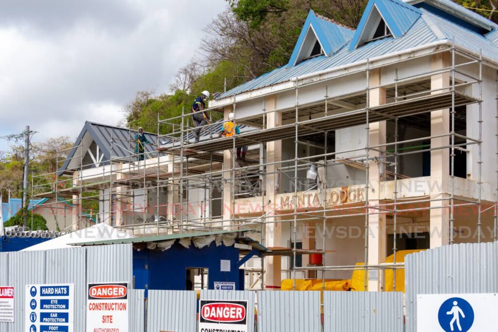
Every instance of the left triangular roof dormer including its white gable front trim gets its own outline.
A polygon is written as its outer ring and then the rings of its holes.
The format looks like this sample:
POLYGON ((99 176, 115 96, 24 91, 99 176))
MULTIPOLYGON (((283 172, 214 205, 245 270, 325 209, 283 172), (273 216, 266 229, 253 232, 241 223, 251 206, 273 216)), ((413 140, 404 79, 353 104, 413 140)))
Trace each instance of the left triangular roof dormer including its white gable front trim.
POLYGON ((289 65, 295 66, 307 58, 315 45, 318 45, 317 41, 323 53, 329 56, 341 49, 354 33, 354 30, 310 10, 290 57, 289 65))

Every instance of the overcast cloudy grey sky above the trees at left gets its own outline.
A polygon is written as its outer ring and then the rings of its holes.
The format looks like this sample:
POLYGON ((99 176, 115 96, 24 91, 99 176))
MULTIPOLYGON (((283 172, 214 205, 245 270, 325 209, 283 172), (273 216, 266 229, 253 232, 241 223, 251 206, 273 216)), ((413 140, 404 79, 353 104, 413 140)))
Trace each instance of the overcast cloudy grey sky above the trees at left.
MULTIPOLYGON (((75 139, 138 90, 168 92, 225 0, 0 0, 0 136, 75 139)), ((0 139, 0 150, 7 150, 0 139)))

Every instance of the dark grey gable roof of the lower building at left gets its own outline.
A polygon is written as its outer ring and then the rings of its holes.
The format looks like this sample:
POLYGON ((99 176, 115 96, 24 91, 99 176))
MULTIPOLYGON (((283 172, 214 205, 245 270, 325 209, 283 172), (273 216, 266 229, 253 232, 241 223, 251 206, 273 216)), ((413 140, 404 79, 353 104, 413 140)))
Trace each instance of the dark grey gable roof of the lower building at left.
MULTIPOLYGON (((78 138, 76 139, 73 148, 69 151, 69 155, 67 160, 64 162, 62 167, 58 170, 58 174, 62 174, 69 168, 72 160, 79 159, 74 157, 78 157, 80 155, 80 149, 82 148, 82 141, 84 138, 87 138, 87 134, 89 137, 97 144, 100 151, 103 153, 104 158, 101 162, 101 165, 109 164, 109 160, 111 159, 111 155, 114 159, 128 159, 130 155, 133 154, 135 144, 133 142, 135 134, 138 133, 138 130, 127 129, 107 124, 101 124, 91 121, 86 121, 83 129, 81 130, 78 138), (111 140, 112 143, 112 151, 111 151, 111 140), (111 153, 112 152, 112 153, 111 153)), ((144 144, 145 147, 145 159, 149 159, 150 153, 154 152, 157 146, 157 134, 145 132, 147 139, 150 141, 149 144, 144 144)), ((88 140, 88 138, 87 138, 88 140)), ((90 144, 87 144, 90 145, 90 144)), ((88 150, 88 147, 87 147, 88 150)), ((86 150, 84 149, 83 155, 86 154, 86 150)), ((75 161, 73 161, 75 163, 75 161)), ((79 166, 79 160, 77 161, 79 166)))

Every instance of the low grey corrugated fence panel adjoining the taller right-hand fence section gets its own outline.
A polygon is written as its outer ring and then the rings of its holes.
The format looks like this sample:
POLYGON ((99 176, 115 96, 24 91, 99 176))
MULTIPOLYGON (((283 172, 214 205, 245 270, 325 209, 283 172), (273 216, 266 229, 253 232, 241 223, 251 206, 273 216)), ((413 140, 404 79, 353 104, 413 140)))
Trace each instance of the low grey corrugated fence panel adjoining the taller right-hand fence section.
POLYGON ((325 292, 324 332, 401 332, 403 293, 325 292))

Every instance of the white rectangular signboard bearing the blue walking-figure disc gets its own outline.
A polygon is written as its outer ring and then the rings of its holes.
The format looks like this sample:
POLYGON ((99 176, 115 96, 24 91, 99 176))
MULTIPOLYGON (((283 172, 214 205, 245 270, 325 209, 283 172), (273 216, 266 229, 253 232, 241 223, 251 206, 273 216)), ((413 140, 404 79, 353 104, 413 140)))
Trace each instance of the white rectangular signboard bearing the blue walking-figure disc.
POLYGON ((487 332, 498 312, 497 294, 417 296, 417 332, 487 332))

